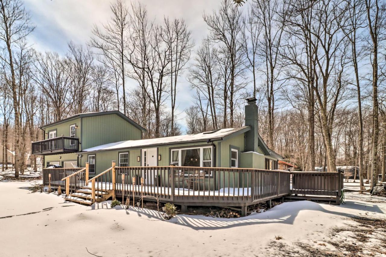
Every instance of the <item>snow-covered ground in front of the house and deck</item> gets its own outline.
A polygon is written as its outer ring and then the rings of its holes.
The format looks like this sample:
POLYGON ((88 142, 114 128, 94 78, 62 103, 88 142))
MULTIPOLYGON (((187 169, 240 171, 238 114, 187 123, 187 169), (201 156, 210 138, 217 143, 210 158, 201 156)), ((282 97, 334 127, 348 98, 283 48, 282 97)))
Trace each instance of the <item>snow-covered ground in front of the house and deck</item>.
POLYGON ((386 220, 386 199, 356 192, 340 206, 299 201, 241 218, 165 221, 157 211, 82 206, 29 186, 0 182, 0 256, 93 256, 86 247, 103 257, 386 256, 386 225, 377 221, 386 220))

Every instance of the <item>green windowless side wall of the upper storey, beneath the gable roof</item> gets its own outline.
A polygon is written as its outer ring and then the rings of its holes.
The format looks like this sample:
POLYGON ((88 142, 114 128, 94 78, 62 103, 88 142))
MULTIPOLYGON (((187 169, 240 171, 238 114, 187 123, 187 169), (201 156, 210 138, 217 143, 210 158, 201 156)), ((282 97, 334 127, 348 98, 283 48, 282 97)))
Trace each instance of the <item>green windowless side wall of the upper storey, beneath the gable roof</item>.
POLYGON ((81 149, 141 139, 141 130, 116 114, 82 118, 81 149))

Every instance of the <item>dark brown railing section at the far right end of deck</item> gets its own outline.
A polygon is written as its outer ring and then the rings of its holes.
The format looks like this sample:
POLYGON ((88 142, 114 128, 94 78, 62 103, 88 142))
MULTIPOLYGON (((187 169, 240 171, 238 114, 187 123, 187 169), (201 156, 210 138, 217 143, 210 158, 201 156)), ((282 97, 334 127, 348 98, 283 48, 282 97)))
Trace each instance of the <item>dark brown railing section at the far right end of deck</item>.
POLYGON ((342 172, 293 171, 291 194, 340 196, 343 188, 342 172))

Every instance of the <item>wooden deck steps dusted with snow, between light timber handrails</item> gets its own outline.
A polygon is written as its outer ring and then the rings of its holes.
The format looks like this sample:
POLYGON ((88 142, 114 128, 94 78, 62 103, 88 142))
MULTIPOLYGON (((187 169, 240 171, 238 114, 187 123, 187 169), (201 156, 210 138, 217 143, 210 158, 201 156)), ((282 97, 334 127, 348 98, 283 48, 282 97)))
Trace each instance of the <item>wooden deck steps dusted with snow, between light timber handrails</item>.
MULTIPOLYGON (((113 195, 113 190, 96 189, 95 190, 95 202, 100 203, 106 201, 113 195)), ((81 189, 76 190, 75 193, 71 193, 64 198, 66 201, 72 201, 74 203, 80 203, 84 205, 92 205, 92 189, 88 186, 83 186, 81 189)))

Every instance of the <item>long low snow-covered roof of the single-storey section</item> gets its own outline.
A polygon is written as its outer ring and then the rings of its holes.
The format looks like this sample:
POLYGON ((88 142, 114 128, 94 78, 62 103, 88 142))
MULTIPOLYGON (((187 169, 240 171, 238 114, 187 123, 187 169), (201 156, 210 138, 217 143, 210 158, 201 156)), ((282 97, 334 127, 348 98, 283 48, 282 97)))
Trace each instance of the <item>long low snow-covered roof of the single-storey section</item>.
POLYGON ((125 148, 137 148, 142 146, 149 145, 169 145, 169 144, 178 144, 178 143, 189 143, 189 142, 205 142, 208 139, 211 140, 222 140, 224 137, 227 137, 236 132, 247 132, 251 130, 250 126, 244 126, 239 128, 223 128, 219 130, 212 130, 207 132, 200 132, 188 135, 179 135, 174 137, 161 137, 153 139, 141 139, 141 140, 127 140, 120 141, 115 143, 109 143, 105 145, 98 145, 88 149, 82 150, 82 152, 95 152, 102 150, 114 150, 114 149, 125 149, 125 148))

